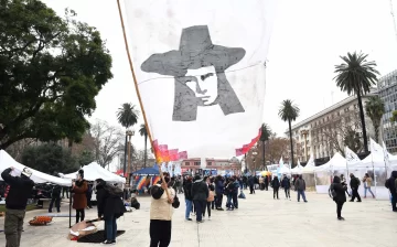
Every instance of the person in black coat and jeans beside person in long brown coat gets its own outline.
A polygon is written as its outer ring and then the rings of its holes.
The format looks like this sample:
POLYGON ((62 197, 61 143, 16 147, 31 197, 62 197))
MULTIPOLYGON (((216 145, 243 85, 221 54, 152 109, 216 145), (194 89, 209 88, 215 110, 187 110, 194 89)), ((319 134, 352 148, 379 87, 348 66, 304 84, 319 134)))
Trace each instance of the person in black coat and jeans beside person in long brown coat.
POLYGON ((97 182, 97 203, 98 203, 98 218, 105 219, 106 240, 104 245, 112 245, 116 243, 117 223, 116 219, 124 215, 126 207, 121 201, 122 192, 117 195, 112 193, 110 184, 104 180, 98 179, 97 182))

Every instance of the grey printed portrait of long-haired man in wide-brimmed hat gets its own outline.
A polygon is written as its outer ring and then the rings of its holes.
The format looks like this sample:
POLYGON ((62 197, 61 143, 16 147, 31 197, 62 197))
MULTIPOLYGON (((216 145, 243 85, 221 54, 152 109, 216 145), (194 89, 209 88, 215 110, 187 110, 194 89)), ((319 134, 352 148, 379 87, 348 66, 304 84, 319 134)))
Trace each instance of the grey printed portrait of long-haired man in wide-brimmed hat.
POLYGON ((182 30, 179 50, 151 55, 148 73, 174 77, 173 121, 195 121, 198 107, 221 107, 225 116, 244 112, 225 71, 243 60, 242 47, 213 44, 206 25, 182 30))

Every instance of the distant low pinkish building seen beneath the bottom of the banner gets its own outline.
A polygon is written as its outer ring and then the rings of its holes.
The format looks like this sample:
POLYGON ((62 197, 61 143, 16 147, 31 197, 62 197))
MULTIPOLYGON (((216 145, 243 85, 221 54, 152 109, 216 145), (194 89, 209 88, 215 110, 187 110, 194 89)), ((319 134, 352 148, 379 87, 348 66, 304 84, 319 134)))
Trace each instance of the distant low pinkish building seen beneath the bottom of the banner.
MULTIPOLYGON (((242 172, 242 164, 238 162, 238 160, 235 159, 205 159, 205 169, 216 169, 218 174, 222 171, 229 171, 234 174, 240 174, 242 172)), ((201 159, 197 158, 183 160, 181 163, 181 169, 182 172, 192 172, 192 174, 195 174, 202 169, 201 159)))

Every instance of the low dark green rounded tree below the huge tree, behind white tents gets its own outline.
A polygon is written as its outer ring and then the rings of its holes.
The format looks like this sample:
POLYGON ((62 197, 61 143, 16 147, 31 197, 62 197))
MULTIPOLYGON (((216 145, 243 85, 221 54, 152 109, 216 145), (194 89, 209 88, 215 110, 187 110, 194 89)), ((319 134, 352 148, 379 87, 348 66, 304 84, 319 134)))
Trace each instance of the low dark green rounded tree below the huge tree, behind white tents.
POLYGON ((71 173, 78 170, 78 164, 71 151, 53 143, 31 146, 24 149, 22 163, 47 174, 71 173))

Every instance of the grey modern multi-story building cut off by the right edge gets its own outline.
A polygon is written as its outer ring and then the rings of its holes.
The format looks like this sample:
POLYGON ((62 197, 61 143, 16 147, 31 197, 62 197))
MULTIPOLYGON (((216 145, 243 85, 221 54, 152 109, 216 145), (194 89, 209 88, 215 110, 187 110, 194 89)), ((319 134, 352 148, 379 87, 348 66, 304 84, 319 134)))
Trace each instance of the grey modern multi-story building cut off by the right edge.
POLYGON ((382 118, 383 140, 387 150, 397 152, 397 131, 390 122, 393 111, 397 110, 397 69, 383 76, 378 83, 379 97, 385 104, 385 114, 382 118))

